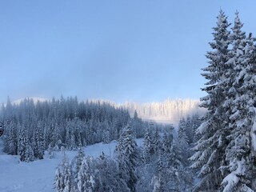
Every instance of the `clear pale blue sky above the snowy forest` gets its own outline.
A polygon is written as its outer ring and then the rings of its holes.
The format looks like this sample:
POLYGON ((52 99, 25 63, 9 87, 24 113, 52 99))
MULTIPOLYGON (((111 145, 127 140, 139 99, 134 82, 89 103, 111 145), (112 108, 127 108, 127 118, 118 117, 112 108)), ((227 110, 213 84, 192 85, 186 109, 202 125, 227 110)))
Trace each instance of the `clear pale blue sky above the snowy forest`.
POLYGON ((256 2, 1 1, 0 102, 27 96, 114 102, 200 98, 220 8, 256 34, 256 2))

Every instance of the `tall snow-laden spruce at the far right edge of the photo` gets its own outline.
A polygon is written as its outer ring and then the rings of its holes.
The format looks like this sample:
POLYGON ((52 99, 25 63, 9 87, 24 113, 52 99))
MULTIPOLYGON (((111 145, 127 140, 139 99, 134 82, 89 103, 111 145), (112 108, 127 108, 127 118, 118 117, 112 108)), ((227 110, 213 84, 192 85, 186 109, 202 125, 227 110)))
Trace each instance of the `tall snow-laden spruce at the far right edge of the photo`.
POLYGON ((231 34, 233 49, 230 65, 234 74, 230 76, 230 143, 226 150, 227 166, 222 167, 226 177, 222 181, 223 191, 254 191, 255 185, 255 150, 253 124, 255 118, 256 93, 256 52, 254 41, 246 38, 242 31, 242 22, 236 13, 231 34), (252 135, 253 134, 253 135, 252 135))

